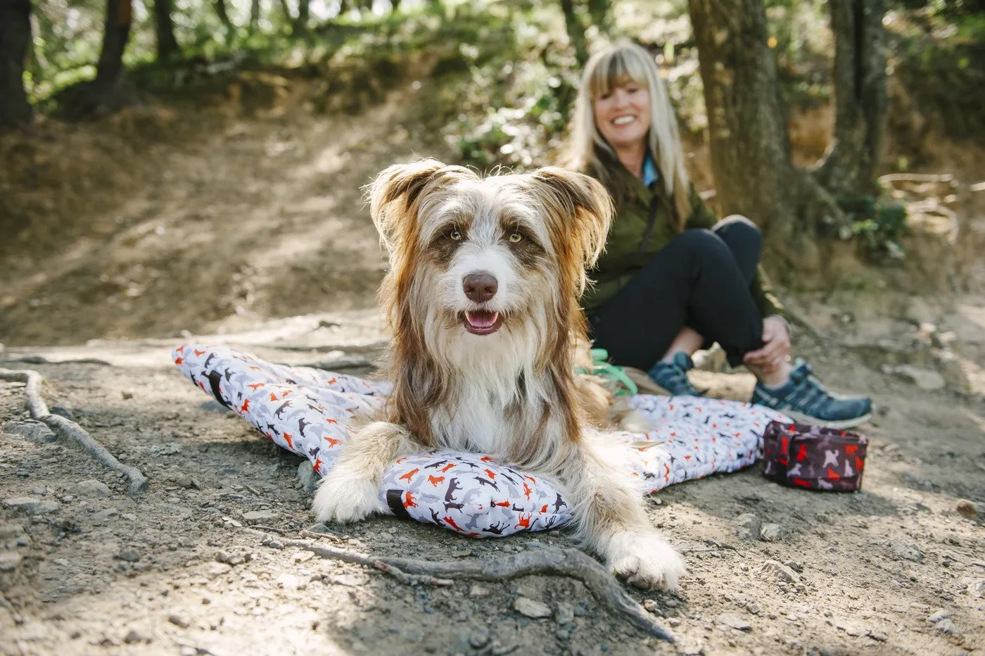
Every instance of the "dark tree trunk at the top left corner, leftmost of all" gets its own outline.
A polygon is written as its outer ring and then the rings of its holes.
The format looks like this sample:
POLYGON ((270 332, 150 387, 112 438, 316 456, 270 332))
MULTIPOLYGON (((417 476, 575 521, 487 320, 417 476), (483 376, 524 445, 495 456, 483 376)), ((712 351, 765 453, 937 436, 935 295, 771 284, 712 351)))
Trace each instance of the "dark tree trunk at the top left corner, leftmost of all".
POLYGON ((24 60, 31 42, 31 0, 0 0, 0 128, 33 118, 24 91, 24 60))

